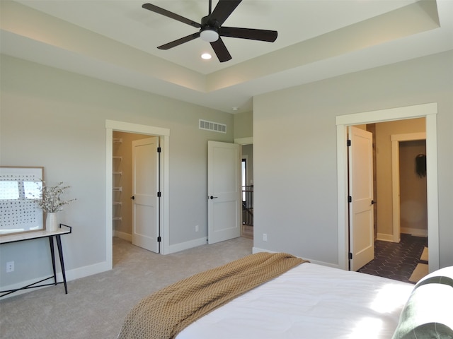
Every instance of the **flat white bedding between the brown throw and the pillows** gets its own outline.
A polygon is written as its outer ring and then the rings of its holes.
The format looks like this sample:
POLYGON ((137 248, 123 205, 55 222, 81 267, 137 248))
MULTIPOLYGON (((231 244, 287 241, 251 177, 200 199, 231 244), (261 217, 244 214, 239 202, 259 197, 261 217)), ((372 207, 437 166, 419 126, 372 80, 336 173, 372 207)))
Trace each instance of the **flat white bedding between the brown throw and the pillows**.
POLYGON ((302 263, 195 321, 177 339, 390 339, 413 285, 302 263))

